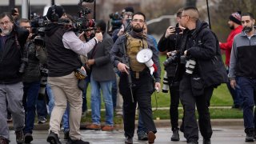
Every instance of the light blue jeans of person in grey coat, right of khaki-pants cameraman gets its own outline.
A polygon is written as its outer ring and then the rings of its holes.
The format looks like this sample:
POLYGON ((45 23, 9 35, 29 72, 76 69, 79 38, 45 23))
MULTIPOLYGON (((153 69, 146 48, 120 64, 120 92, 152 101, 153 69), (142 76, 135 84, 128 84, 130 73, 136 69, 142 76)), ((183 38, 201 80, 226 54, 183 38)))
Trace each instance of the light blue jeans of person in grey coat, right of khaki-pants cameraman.
POLYGON ((101 120, 101 91, 106 109, 106 125, 113 126, 113 102, 111 96, 112 81, 98 82, 94 81, 93 75, 90 76, 90 102, 92 121, 96 125, 100 125, 101 120))

